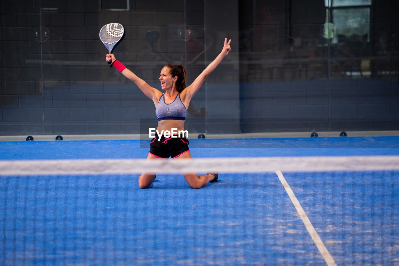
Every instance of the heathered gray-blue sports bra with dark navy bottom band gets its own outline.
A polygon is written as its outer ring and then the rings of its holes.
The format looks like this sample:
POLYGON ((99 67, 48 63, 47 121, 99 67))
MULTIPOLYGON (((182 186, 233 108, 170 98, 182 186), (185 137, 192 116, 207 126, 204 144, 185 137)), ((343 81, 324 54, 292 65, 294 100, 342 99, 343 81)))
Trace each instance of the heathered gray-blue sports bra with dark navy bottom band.
POLYGON ((161 120, 186 120, 187 109, 180 99, 180 93, 172 103, 165 103, 165 94, 162 94, 155 109, 156 118, 161 120))

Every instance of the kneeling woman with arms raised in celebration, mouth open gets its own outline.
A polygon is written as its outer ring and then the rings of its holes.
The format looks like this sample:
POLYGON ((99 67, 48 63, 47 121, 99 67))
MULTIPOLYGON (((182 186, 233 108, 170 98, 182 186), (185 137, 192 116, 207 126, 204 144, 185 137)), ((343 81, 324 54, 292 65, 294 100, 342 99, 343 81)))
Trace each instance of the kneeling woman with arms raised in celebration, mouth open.
MULTIPOLYGON (((162 91, 155 89, 148 85, 144 80, 137 77, 132 71, 127 69, 123 64, 115 59, 113 54, 107 54, 106 60, 125 77, 133 81, 140 90, 152 101, 156 107, 156 116, 158 119, 157 131, 165 132, 172 129, 177 129, 177 132, 184 131, 184 120, 186 118, 187 108, 191 98, 201 87, 206 77, 220 64, 227 54, 229 54, 230 42, 225 38, 224 46, 221 53, 207 66, 202 73, 193 81, 193 83, 186 87, 186 69, 182 65, 167 64, 161 70, 159 80, 161 82, 162 91)), ((151 159, 192 159, 190 150, 188 149, 188 140, 185 137, 180 138, 165 138, 162 136, 158 140, 158 136, 151 140, 150 152, 147 160, 151 159)), ((206 174, 198 176, 196 173, 184 173, 184 178, 187 183, 194 189, 199 189, 205 186, 208 182, 217 182, 218 174, 206 174)), ((142 173, 138 178, 138 185, 144 189, 151 185, 154 181, 154 174, 142 173)))

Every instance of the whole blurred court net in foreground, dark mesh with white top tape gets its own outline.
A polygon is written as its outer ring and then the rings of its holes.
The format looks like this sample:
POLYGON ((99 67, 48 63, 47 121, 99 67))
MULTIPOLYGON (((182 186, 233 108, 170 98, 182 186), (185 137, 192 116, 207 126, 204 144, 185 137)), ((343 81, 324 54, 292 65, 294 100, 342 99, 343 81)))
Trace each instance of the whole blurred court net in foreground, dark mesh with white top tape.
POLYGON ((143 160, 1 161, 0 260, 398 263, 397 156, 208 158, 148 167, 143 160), (216 168, 219 182, 198 190, 172 174, 216 168), (136 173, 149 170, 156 180, 139 189, 136 173))

